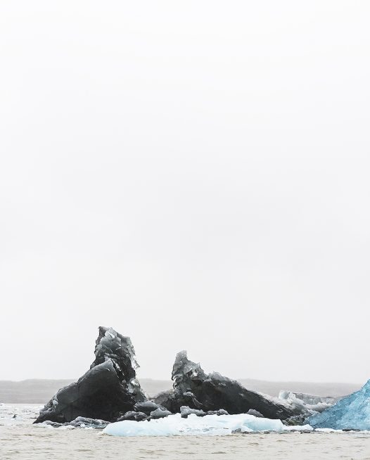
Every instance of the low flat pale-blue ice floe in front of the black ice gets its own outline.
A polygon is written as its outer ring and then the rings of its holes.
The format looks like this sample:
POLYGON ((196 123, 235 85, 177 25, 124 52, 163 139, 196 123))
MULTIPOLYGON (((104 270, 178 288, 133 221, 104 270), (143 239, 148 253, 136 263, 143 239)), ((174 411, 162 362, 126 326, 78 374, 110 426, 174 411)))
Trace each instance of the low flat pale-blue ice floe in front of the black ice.
POLYGON ((231 435, 236 430, 239 433, 265 430, 281 432, 285 428, 278 419, 261 419, 248 414, 203 417, 189 414, 187 419, 181 418, 181 414, 174 414, 151 421, 110 423, 103 433, 113 436, 231 435))

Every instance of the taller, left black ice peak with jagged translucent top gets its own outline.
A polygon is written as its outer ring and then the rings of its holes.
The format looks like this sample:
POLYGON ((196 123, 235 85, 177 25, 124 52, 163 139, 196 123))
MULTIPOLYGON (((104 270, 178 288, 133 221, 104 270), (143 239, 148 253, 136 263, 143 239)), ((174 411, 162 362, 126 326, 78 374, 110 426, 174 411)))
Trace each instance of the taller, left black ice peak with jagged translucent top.
POLYGON ((89 371, 58 390, 34 423, 66 423, 77 417, 116 421, 147 399, 136 380, 137 367, 130 338, 112 328, 99 327, 95 361, 89 371))

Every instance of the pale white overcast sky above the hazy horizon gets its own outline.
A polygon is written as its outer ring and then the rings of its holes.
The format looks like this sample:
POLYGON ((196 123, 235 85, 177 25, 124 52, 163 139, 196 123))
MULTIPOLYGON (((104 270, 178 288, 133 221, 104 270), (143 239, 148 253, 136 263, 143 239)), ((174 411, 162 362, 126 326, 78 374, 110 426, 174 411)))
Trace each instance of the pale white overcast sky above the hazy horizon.
POLYGON ((0 379, 370 378, 370 2, 0 5, 0 379))

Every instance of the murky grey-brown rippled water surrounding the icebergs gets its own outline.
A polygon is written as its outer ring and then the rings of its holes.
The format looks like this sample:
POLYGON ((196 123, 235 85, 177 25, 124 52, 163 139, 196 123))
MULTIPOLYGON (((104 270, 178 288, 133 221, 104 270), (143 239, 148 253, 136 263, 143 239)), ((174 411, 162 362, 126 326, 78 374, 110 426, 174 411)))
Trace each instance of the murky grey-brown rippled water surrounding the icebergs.
POLYGON ((368 432, 113 437, 89 428, 32 425, 39 408, 0 404, 1 460, 370 460, 368 432))

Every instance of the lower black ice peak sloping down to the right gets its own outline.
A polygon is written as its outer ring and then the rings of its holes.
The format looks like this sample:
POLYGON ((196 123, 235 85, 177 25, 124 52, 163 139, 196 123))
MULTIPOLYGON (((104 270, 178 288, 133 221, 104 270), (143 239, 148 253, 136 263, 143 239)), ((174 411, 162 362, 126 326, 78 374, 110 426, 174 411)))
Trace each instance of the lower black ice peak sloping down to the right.
POLYGON ((185 351, 177 354, 172 380, 174 389, 154 398, 172 413, 186 406, 203 412, 224 409, 229 414, 246 414, 253 409, 269 419, 281 420, 297 415, 289 407, 243 388, 237 381, 217 372, 205 373, 200 364, 189 361, 185 351))

